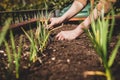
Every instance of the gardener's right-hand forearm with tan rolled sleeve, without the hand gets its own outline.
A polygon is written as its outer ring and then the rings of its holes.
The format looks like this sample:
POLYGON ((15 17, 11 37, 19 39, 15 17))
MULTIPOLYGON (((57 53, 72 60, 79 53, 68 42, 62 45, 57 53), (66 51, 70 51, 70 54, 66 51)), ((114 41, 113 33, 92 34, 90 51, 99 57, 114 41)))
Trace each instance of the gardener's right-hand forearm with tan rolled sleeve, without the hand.
POLYGON ((100 0, 93 12, 79 26, 82 28, 89 28, 89 25, 92 23, 91 18, 94 18, 94 20, 96 20, 101 15, 102 10, 104 10, 104 13, 108 13, 115 2, 116 0, 100 0))

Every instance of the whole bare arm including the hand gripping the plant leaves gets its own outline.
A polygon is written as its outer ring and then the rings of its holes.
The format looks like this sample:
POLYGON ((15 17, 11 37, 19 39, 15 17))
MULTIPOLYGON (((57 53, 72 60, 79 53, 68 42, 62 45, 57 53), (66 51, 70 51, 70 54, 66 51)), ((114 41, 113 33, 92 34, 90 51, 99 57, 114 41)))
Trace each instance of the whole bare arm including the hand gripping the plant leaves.
POLYGON ((57 18, 50 18, 51 23, 49 24, 49 28, 58 26, 61 23, 63 23, 64 21, 67 21, 70 18, 72 18, 80 10, 83 9, 83 7, 86 5, 86 3, 87 3, 87 0, 74 0, 70 9, 63 16, 57 17, 57 18), (84 1, 84 3, 82 3, 81 1, 84 1))

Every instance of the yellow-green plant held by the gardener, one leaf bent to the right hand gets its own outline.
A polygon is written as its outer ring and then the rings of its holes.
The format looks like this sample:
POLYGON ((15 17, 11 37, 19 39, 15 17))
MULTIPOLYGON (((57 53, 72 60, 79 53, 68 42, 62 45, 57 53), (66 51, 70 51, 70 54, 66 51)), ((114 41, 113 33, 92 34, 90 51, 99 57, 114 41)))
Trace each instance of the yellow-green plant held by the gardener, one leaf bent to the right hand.
POLYGON ((35 38, 36 38, 37 44, 39 44, 39 51, 41 53, 43 53, 43 51, 45 50, 49 42, 51 32, 62 27, 62 26, 59 26, 51 30, 47 29, 50 16, 51 16, 51 13, 48 13, 47 10, 45 11, 45 14, 43 13, 43 11, 41 12, 40 21, 38 21, 38 26, 35 33, 35 38))

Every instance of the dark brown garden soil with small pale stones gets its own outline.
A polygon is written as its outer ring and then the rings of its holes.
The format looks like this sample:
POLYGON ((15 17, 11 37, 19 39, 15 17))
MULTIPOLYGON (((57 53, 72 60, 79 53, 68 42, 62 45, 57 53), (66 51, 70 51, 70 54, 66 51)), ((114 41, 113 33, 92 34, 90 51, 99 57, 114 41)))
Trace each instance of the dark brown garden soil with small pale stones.
MULTIPOLYGON (((21 56, 20 78, 18 80, 104 80, 103 76, 84 76, 86 71, 104 71, 104 67, 96 54, 91 41, 85 33, 72 41, 58 41, 55 35, 61 30, 74 29, 77 23, 66 23, 64 27, 51 34, 51 41, 40 60, 28 67, 29 41, 24 35, 23 54, 21 56)), ((33 29, 34 30, 34 29, 33 29)), ((15 41, 23 35, 19 29, 15 32, 15 41)), ((114 48, 120 33, 119 21, 116 22, 109 53, 114 48)), ((4 51, 4 47, 0 50, 4 51)), ((14 75, 7 75, 7 56, 0 52, 0 80, 17 80, 14 75)), ((112 66, 115 80, 120 80, 120 49, 112 66)))

